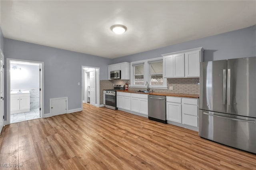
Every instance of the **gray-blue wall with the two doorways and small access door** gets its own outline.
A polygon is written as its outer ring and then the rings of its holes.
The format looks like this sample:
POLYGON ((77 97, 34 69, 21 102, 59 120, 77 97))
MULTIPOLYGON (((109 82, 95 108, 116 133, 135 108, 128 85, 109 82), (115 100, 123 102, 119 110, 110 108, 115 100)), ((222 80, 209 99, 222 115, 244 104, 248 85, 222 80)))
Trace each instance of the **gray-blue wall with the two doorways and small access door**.
POLYGON ((44 113, 50 113, 50 99, 58 97, 68 97, 69 110, 81 108, 82 91, 78 82, 82 83, 82 65, 100 67, 100 79, 106 79, 107 65, 111 61, 104 57, 7 38, 4 38, 4 56, 5 65, 6 58, 44 61, 44 113))

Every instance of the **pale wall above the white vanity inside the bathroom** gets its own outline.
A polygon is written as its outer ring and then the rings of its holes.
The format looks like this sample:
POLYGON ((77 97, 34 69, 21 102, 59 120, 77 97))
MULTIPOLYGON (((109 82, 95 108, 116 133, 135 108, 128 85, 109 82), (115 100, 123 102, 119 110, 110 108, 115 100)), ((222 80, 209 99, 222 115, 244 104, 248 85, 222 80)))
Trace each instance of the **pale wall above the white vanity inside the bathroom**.
POLYGON ((11 63, 10 65, 11 90, 39 89, 39 65, 16 63, 11 63), (12 69, 13 66, 17 67, 17 69, 12 69))

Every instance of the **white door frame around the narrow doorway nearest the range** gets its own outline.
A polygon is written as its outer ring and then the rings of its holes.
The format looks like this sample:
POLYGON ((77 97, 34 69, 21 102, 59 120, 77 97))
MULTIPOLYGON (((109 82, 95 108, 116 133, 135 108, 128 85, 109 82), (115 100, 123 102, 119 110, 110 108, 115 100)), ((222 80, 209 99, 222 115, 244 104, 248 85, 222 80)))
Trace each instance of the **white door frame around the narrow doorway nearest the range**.
POLYGON ((83 110, 83 90, 84 90, 84 67, 87 67, 87 68, 94 68, 95 69, 95 75, 96 75, 96 85, 97 85, 97 93, 95 93, 95 96, 97 97, 97 104, 94 105, 96 107, 100 107, 100 68, 99 67, 91 67, 91 66, 85 66, 85 65, 82 65, 81 67, 81 72, 82 72, 82 82, 81 83, 81 108, 83 110))

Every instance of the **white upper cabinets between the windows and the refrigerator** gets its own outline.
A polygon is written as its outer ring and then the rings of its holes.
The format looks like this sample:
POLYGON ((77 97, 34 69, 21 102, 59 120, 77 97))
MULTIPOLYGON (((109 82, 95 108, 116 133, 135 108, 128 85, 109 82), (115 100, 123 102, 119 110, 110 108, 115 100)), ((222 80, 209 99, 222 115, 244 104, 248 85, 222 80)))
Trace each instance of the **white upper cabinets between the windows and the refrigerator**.
POLYGON ((163 54, 163 77, 199 77, 204 48, 163 54))

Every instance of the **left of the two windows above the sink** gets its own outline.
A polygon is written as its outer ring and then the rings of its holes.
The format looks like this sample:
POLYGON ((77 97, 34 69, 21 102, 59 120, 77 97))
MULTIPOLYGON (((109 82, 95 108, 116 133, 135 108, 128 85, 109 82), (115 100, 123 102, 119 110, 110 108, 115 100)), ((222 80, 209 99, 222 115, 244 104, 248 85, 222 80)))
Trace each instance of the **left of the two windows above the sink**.
POLYGON ((134 85, 144 85, 144 63, 132 65, 134 71, 134 85))

